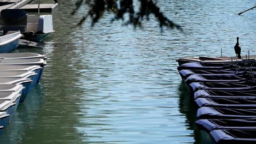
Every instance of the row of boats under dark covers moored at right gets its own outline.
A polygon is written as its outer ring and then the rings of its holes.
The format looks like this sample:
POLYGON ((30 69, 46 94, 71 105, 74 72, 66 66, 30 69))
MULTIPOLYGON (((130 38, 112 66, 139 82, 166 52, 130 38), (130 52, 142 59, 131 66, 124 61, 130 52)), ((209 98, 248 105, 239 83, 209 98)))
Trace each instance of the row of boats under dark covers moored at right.
POLYGON ((256 143, 255 59, 179 59, 179 64, 179 74, 199 106, 197 126, 218 143, 256 143))

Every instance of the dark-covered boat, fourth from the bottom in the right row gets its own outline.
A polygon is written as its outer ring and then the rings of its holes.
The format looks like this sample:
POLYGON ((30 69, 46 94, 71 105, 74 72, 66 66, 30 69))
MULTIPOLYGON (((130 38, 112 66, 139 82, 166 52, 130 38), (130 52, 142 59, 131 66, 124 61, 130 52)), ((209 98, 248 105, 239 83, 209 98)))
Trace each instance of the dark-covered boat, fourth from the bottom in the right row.
POLYGON ((199 107, 210 106, 235 109, 256 109, 255 98, 197 98, 195 99, 195 102, 199 107))

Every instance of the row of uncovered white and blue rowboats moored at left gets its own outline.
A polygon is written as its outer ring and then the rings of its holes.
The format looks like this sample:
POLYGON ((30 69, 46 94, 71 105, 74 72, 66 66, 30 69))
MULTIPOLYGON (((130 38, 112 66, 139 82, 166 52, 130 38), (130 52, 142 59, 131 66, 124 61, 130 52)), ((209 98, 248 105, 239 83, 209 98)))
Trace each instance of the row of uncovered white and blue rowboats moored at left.
POLYGON ((45 60, 37 53, 0 53, 0 136, 19 103, 39 82, 45 60))

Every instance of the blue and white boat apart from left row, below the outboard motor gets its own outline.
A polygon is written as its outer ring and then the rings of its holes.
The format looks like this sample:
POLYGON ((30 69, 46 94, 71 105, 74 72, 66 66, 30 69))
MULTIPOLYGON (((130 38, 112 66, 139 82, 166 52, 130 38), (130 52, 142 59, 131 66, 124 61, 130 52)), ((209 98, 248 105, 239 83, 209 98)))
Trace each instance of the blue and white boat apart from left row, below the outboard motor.
POLYGON ((18 31, 9 31, 0 37, 0 53, 5 53, 16 49, 19 46, 19 39, 22 34, 18 31))

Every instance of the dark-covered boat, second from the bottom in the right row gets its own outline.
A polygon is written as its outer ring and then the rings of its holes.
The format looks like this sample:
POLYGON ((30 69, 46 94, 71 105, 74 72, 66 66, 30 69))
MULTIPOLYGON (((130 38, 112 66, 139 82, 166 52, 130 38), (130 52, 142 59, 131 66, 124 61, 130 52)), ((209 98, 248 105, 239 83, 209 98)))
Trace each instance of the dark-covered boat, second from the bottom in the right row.
POLYGON ((199 119, 197 127, 207 132, 216 129, 256 129, 256 118, 248 119, 199 119))

